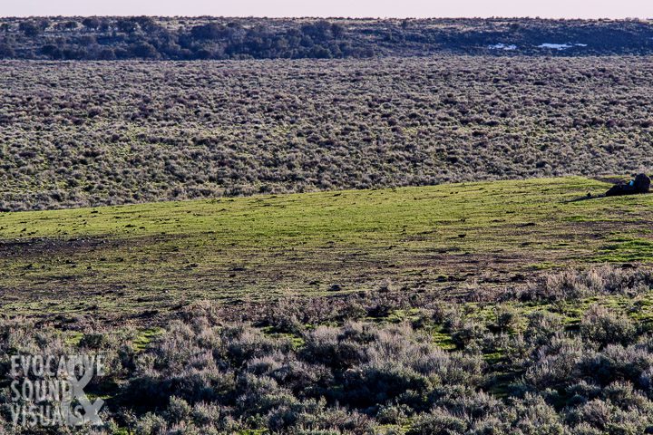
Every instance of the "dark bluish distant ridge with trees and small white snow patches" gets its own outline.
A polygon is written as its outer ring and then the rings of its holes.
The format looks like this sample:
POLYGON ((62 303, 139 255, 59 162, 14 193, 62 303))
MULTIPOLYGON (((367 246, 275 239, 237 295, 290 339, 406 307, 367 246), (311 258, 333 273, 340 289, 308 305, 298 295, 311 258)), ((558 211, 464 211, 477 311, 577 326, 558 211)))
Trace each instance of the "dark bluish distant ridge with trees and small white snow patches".
POLYGON ((366 58, 434 53, 653 53, 653 25, 629 20, 0 18, 0 59, 366 58))

